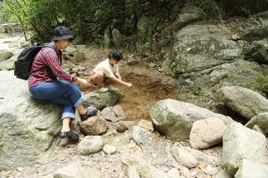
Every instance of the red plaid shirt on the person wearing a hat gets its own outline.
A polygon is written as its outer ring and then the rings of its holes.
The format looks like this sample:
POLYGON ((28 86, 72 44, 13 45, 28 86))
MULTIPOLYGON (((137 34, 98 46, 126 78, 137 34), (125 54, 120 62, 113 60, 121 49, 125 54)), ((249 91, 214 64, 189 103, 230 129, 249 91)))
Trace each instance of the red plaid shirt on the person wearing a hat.
MULTIPOLYGON (((54 42, 50 43, 55 46, 54 42)), ((45 82, 56 81, 57 78, 73 83, 77 77, 64 72, 61 68, 61 50, 51 49, 49 47, 41 49, 32 63, 31 75, 28 78, 28 86, 33 87, 45 82)))

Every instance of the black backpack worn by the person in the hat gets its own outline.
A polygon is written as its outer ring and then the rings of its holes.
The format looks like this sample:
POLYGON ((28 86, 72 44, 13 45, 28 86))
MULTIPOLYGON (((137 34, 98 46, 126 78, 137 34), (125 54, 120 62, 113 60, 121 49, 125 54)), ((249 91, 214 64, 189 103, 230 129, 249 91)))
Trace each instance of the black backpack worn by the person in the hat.
POLYGON ((17 78, 28 80, 30 70, 32 68, 32 62, 34 61, 37 53, 44 47, 49 47, 56 51, 56 47, 51 44, 40 45, 39 43, 35 43, 20 52, 17 61, 15 61, 14 75, 16 75, 17 78))

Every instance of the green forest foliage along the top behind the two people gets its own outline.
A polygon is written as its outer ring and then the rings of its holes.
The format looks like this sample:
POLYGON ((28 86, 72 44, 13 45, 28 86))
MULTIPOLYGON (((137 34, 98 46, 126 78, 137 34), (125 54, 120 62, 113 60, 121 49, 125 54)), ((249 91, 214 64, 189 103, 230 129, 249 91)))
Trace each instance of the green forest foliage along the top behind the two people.
POLYGON ((4 0, 0 2, 0 18, 4 22, 21 23, 26 31, 34 32, 32 40, 39 42, 51 41, 54 28, 64 25, 80 38, 101 44, 108 25, 116 25, 127 35, 134 34, 142 13, 162 11, 163 5, 171 1, 4 0))

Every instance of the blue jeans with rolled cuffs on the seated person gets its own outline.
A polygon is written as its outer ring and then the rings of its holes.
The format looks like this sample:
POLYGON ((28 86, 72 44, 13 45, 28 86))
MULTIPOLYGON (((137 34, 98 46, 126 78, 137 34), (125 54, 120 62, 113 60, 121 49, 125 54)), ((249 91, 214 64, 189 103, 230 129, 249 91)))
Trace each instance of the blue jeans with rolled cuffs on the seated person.
POLYGON ((61 119, 75 119, 75 108, 78 108, 85 97, 76 84, 64 80, 46 82, 30 88, 30 93, 37 99, 44 99, 58 104, 63 109, 61 119))

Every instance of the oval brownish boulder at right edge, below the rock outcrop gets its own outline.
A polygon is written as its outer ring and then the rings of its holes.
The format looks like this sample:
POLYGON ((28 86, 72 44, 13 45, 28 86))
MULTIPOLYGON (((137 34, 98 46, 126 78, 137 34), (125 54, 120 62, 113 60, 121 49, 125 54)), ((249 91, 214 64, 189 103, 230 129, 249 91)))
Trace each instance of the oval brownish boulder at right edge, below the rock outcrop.
POLYGON ((217 90, 219 101, 247 120, 259 113, 268 112, 268 99, 251 89, 243 87, 222 87, 217 90))

